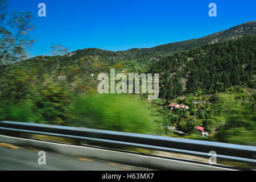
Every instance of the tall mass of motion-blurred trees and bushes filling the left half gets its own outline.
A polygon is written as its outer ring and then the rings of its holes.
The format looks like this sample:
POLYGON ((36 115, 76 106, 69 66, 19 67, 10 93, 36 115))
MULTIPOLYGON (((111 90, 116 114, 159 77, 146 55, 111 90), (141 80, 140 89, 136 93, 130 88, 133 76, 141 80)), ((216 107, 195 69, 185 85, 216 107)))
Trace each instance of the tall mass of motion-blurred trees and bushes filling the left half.
POLYGON ((10 65, 5 70, 0 77, 1 120, 132 133, 154 133, 158 128, 157 117, 146 100, 94 92, 97 77, 91 73, 96 75, 99 71, 91 64, 101 61, 82 57, 76 63, 67 64, 58 57, 46 58, 48 63, 35 58, 10 65))

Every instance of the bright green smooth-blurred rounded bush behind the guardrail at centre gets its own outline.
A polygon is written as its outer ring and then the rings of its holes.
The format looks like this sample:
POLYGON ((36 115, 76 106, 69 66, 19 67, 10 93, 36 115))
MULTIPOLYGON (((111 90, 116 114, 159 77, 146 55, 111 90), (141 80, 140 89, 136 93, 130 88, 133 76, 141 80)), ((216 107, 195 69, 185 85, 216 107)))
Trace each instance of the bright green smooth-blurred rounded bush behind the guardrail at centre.
POLYGON ((159 126, 154 110, 137 96, 89 94, 76 98, 72 107, 76 126, 143 134, 159 126))

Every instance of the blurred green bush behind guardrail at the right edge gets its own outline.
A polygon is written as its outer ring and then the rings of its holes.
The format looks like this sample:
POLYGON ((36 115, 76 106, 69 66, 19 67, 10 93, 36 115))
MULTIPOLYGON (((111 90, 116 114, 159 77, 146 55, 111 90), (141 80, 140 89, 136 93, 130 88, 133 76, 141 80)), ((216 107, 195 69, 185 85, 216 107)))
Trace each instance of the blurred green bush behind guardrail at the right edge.
POLYGON ((253 98, 245 89, 234 94, 221 93, 219 96, 220 101, 213 106, 213 109, 216 109, 213 116, 214 122, 219 123, 213 140, 235 144, 255 144, 256 113, 255 101, 251 101, 253 98), (244 96, 243 99, 241 95, 244 96))

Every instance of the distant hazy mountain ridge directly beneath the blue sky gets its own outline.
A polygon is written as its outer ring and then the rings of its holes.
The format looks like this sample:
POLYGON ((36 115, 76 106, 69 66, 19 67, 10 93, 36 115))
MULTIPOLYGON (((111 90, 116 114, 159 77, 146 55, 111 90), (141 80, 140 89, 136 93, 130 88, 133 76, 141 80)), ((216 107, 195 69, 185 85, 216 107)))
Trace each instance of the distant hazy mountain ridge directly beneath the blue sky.
POLYGON ((162 58, 165 56, 170 56, 175 52, 187 51, 191 48, 203 46, 205 44, 213 44, 227 40, 238 39, 247 35, 256 35, 256 21, 246 22, 229 28, 228 30, 220 31, 203 38, 163 44, 152 48, 133 48, 126 51, 117 52, 97 48, 86 48, 74 51, 70 55, 73 56, 72 59, 79 59, 81 56, 89 55, 109 61, 159 60, 159 57, 162 58))

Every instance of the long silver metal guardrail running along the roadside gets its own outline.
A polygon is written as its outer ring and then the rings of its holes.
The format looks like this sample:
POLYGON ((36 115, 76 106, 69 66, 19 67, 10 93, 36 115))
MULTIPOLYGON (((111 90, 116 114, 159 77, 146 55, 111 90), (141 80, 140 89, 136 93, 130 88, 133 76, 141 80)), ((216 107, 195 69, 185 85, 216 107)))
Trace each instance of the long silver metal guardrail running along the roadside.
POLYGON ((207 158, 211 156, 209 155, 210 151, 215 151, 217 159, 256 164, 256 147, 254 146, 12 121, 0 122, 0 134, 3 131, 50 135, 105 144, 119 144, 157 151, 204 156, 207 158))

